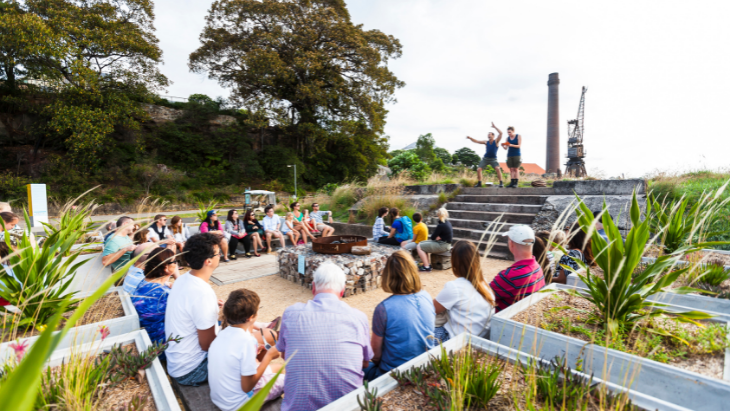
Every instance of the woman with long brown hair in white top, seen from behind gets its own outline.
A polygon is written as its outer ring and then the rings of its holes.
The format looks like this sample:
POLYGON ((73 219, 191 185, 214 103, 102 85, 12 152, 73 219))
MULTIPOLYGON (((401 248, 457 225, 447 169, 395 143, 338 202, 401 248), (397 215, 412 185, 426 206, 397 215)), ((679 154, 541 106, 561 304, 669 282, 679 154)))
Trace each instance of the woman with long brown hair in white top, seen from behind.
POLYGON ((454 245, 451 268, 456 280, 444 284, 444 289, 433 300, 438 316, 434 330, 436 338, 446 342, 463 332, 488 338, 494 315, 494 294, 484 278, 474 243, 459 241, 454 245))

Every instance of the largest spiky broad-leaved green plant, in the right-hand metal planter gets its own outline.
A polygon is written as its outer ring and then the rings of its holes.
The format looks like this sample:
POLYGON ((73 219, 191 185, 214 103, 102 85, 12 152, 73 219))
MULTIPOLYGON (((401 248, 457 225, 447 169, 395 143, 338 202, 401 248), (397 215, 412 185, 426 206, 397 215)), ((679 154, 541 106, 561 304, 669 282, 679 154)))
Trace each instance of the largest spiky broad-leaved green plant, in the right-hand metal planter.
MULTIPOLYGON (((675 266, 683 255, 696 251, 696 248, 689 248, 690 246, 685 245, 671 254, 660 256, 652 264, 647 265, 641 273, 632 277, 636 267, 641 263, 641 257, 651 235, 649 218, 641 221, 641 211, 635 192, 630 210, 632 227, 625 242, 622 240, 613 218, 608 212, 605 212, 605 205, 602 223, 608 241, 595 229, 595 217, 580 197, 578 197, 578 202, 576 210, 578 222, 592 240, 593 255, 596 264, 603 270, 604 278, 592 275, 590 267, 576 259, 576 263, 586 271, 585 275, 576 274, 586 284, 588 291, 574 291, 573 293, 586 298, 596 306, 601 314, 600 321, 605 323, 609 334, 617 335, 616 333, 632 328, 641 320, 658 315, 675 316, 680 321, 693 322, 698 325, 696 320, 711 318, 710 315, 699 311, 668 312, 662 309, 666 307, 665 304, 648 301, 650 296, 660 291, 677 293, 697 291, 689 287, 668 289, 689 268, 661 275, 675 266)), ((704 245, 695 244, 695 247, 704 245)), ((564 266, 564 268, 571 270, 568 266, 564 266)), ((665 334, 661 330, 651 331, 665 334)))

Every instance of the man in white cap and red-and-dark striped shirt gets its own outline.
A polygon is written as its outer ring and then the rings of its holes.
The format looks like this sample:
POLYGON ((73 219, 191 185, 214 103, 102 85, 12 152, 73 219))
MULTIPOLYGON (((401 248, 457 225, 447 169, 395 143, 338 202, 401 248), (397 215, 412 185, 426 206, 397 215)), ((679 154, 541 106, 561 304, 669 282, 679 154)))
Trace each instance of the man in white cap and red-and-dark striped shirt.
MULTIPOLYGON (((535 233, 532 228, 526 225, 514 225, 504 236, 507 237, 507 245, 515 262, 500 272, 490 284, 497 296, 497 312, 540 291, 545 286, 545 277, 540 264, 532 256, 532 246, 535 244, 535 233)), ((453 258, 451 264, 454 264, 453 258)))

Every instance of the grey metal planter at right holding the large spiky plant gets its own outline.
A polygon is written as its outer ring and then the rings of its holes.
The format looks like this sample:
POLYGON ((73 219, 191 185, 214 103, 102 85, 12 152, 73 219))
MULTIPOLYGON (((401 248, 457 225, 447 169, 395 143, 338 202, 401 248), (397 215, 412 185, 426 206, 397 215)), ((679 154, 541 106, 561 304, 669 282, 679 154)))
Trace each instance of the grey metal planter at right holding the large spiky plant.
MULTIPOLYGON (((558 287, 551 284, 545 289, 558 290, 558 287)), ((628 386, 632 391, 665 403, 693 410, 726 409, 730 398, 730 383, 727 381, 510 320, 550 295, 552 293, 533 294, 495 315, 490 340, 541 358, 565 356, 571 367, 580 360, 583 369, 602 380, 628 386)), ((728 350, 725 357, 727 375, 728 350)))

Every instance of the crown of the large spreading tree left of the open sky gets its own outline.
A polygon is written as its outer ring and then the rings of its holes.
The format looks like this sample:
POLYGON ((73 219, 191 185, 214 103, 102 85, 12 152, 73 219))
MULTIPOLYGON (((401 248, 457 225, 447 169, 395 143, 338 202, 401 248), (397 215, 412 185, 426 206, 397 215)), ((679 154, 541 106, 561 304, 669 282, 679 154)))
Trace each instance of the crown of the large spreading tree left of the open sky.
POLYGON ((200 38, 190 68, 231 87, 258 123, 281 127, 310 182, 375 173, 385 104, 404 85, 387 67, 401 55, 397 39, 354 25, 342 0, 219 0, 200 38))

